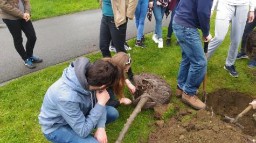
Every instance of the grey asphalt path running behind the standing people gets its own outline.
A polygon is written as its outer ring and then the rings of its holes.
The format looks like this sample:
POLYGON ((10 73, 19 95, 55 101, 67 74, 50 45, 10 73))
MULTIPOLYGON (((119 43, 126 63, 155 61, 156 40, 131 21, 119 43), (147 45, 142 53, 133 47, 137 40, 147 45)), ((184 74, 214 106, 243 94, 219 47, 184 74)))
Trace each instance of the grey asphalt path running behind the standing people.
MULTIPOLYGON (((36 63, 35 69, 27 69, 22 58, 13 46, 8 28, 0 27, 0 84, 11 79, 36 72, 48 66, 68 61, 75 57, 99 50, 99 32, 102 13, 100 9, 87 10, 65 16, 46 18, 33 22, 37 35, 34 54, 43 58, 43 63, 36 63)), ((168 19, 163 18, 163 26, 168 26, 168 19)), ((0 21, 1 22, 1 21, 0 21)), ((155 18, 145 20, 144 33, 155 29, 155 18)), ((136 37, 135 20, 129 20, 126 39, 136 37)), ((23 33, 23 45, 26 37, 23 33)))

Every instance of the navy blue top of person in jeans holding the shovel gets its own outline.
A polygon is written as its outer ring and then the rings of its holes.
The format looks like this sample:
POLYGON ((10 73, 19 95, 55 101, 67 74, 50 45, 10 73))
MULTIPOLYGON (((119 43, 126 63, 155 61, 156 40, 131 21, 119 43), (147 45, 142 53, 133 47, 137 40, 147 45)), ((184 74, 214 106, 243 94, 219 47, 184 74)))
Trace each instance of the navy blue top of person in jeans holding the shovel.
POLYGON ((174 21, 188 28, 199 28, 206 37, 209 35, 212 2, 213 0, 181 0, 174 21))

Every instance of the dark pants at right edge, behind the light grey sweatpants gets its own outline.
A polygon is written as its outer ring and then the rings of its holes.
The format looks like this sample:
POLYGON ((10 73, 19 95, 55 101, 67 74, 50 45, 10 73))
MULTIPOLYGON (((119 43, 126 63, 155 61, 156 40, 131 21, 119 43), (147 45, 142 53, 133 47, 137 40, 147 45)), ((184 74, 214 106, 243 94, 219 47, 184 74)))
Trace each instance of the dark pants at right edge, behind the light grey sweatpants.
MULTIPOLYGON (((241 42, 241 53, 245 54, 245 43, 246 43, 246 39, 247 36, 253 31, 253 29, 256 27, 256 11, 254 11, 255 14, 255 18, 251 23, 246 23, 245 25, 245 31, 242 37, 242 42, 241 42)), ((255 59, 256 59, 256 55, 255 55, 255 59)))

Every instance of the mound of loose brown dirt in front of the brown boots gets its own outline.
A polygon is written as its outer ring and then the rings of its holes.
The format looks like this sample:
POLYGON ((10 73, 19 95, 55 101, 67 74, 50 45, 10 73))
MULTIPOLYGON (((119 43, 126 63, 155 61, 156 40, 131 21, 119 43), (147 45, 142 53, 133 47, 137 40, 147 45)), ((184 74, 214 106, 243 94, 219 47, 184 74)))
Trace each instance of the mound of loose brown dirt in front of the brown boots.
POLYGON ((251 142, 238 127, 220 121, 206 110, 199 110, 185 123, 177 121, 176 116, 151 132, 148 142, 251 142))

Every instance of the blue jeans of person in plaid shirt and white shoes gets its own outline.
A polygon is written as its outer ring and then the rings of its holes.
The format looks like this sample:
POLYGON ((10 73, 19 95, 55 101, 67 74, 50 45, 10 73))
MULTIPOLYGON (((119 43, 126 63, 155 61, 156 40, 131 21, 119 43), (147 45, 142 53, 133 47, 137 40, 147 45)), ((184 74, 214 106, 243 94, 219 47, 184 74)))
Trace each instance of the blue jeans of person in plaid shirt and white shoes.
POLYGON ((156 1, 154 1, 154 9, 153 13, 156 19, 156 29, 154 34, 157 34, 158 39, 162 38, 162 20, 164 16, 164 12, 166 10, 166 7, 159 6, 156 4, 156 1))

